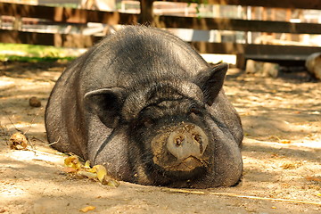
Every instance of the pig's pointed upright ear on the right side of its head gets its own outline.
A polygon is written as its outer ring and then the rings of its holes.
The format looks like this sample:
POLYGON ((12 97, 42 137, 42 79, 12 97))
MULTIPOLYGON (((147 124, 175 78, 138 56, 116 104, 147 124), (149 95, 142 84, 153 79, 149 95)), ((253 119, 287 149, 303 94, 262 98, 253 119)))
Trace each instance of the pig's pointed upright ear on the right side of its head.
POLYGON ((220 63, 210 69, 200 72, 194 78, 193 82, 201 87, 205 103, 208 105, 212 105, 215 98, 218 96, 218 93, 223 86, 227 70, 228 64, 220 63))

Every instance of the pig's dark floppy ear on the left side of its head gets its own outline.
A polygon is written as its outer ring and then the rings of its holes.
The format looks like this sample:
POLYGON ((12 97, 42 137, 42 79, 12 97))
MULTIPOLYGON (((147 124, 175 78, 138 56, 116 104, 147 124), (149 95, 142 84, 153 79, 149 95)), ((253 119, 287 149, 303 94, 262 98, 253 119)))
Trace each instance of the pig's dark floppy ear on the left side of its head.
POLYGON ((124 89, 121 87, 103 88, 86 93, 85 103, 108 128, 117 127, 120 111, 124 103, 124 89))

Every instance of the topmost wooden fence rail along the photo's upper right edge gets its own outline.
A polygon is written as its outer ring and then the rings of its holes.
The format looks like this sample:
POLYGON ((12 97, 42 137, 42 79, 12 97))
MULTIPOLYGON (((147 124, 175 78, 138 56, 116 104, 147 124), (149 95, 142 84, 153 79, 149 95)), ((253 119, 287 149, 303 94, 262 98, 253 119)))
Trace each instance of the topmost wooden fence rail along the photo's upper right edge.
MULTIPOLYGON (((160 0, 161 1, 161 0, 160 0)), ((186 0, 162 0, 166 2, 186 3, 186 0)), ((230 4, 242 6, 262 6, 262 7, 279 7, 292 9, 312 9, 321 10, 320 0, 207 0, 208 4, 230 4)))

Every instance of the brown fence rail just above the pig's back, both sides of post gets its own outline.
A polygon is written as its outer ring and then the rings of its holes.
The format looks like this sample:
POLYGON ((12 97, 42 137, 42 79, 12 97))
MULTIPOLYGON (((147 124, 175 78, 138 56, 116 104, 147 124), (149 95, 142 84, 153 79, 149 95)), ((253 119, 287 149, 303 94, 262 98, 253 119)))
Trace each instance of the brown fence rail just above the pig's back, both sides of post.
MULTIPOLYGON (((138 15, 120 12, 98 12, 63 7, 35 6, 0 3, 0 14, 32 17, 70 23, 102 22, 106 24, 137 23, 138 15)), ((321 25, 314 23, 290 23, 285 21, 245 21, 229 19, 159 16, 159 27, 185 29, 221 29, 293 34, 321 34, 321 25)))

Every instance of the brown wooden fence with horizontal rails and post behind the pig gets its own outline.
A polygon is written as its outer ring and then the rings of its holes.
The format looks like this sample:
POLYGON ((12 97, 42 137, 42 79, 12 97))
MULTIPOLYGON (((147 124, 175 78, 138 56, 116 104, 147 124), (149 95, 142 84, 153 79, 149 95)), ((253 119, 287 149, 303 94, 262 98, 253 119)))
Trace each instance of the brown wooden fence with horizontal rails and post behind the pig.
MULTIPOLYGON (((153 15, 152 4, 142 4, 141 14, 123 12, 101 12, 83 9, 50 7, 42 5, 0 3, 2 17, 14 17, 15 21, 22 18, 37 18, 47 25, 70 25, 84 28, 88 22, 99 22, 107 25, 128 25, 139 22, 151 22, 156 27, 167 29, 218 29, 244 32, 291 33, 294 35, 321 35, 321 24, 292 23, 289 21, 257 21, 226 18, 197 18, 177 17, 169 15, 153 15)), ((186 2, 185 0, 171 0, 169 2, 186 2)), ((262 6, 289 9, 321 10, 319 0, 208 0, 208 4, 229 4, 242 6, 262 6)), ((0 42, 22 43, 34 45, 55 45, 68 47, 89 47, 101 37, 71 33, 39 33, 14 29, 0 29, 0 42)), ((304 45, 260 45, 242 44, 236 42, 198 42, 191 44, 200 53, 236 54, 242 63, 244 59, 260 60, 305 60, 310 53, 321 52, 320 46, 304 45)))

